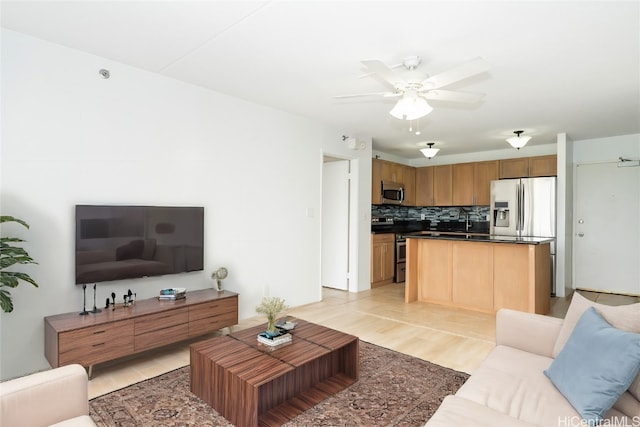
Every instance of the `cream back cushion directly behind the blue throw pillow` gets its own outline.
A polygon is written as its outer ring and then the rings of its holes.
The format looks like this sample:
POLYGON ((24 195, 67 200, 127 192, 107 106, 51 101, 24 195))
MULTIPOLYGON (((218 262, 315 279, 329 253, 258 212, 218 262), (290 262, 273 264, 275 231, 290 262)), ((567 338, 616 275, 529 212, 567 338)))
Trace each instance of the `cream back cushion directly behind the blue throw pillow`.
MULTIPOLYGON (((589 307, 595 308, 612 326, 622 329, 623 331, 634 332, 636 334, 640 333, 640 303, 619 306, 604 305, 591 301, 578 292, 574 292, 571 298, 571 304, 560 328, 556 344, 553 347, 553 357, 558 356, 560 350, 562 350, 562 347, 564 347, 564 344, 569 339, 576 323, 578 323, 578 319, 580 319, 582 313, 589 307)), ((636 398, 640 399, 640 396, 636 396, 636 398)))

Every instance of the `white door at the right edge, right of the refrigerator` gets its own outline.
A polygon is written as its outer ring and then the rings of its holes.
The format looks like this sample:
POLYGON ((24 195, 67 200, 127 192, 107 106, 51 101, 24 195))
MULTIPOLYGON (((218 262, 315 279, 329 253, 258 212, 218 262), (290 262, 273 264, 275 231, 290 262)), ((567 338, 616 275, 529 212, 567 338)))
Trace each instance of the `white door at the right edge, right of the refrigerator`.
POLYGON ((577 289, 640 295, 640 167, 576 166, 577 289))

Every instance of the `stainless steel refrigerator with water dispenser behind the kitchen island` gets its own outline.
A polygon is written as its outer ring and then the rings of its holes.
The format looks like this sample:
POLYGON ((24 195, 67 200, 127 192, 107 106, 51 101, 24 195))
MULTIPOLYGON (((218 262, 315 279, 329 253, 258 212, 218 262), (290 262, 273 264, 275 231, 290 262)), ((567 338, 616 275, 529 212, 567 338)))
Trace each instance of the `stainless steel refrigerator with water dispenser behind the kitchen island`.
POLYGON ((556 178, 491 181, 491 234, 548 237, 551 242, 551 294, 555 295, 556 178))

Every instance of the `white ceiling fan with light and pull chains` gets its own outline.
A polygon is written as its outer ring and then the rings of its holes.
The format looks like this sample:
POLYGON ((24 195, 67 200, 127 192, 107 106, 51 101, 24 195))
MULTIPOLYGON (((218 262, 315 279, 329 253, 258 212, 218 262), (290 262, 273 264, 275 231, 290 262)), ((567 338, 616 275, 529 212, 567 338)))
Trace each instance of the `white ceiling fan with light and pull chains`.
POLYGON ((444 71, 435 76, 428 76, 417 70, 422 62, 419 56, 409 56, 401 64, 387 66, 377 59, 361 61, 369 71, 361 77, 372 76, 387 86, 390 91, 341 95, 335 98, 355 98, 361 96, 400 97, 389 112, 392 116, 403 120, 415 120, 429 114, 433 108, 427 100, 474 103, 480 101, 484 94, 459 92, 441 89, 460 80, 475 76, 489 70, 489 63, 483 58, 475 58, 462 65, 444 71), (394 68, 404 67, 403 73, 396 73, 394 68))

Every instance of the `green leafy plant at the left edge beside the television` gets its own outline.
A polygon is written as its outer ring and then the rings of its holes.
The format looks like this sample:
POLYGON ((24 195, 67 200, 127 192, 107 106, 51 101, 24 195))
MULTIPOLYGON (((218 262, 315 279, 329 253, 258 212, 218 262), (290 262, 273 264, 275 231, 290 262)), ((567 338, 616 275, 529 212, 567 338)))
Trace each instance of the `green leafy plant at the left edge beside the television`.
MULTIPOLYGON (((29 224, 21 219, 12 216, 0 216, 0 223, 5 222, 17 222, 29 228, 29 224)), ((0 238, 0 308, 2 308, 5 313, 13 311, 13 301, 11 300, 11 293, 4 288, 15 288, 20 284, 20 280, 31 283, 36 288, 38 287, 36 281, 28 274, 17 271, 6 271, 7 268, 15 266, 16 264, 37 264, 24 248, 16 246, 16 243, 23 242, 25 242, 25 240, 17 237, 3 236, 0 238)))

